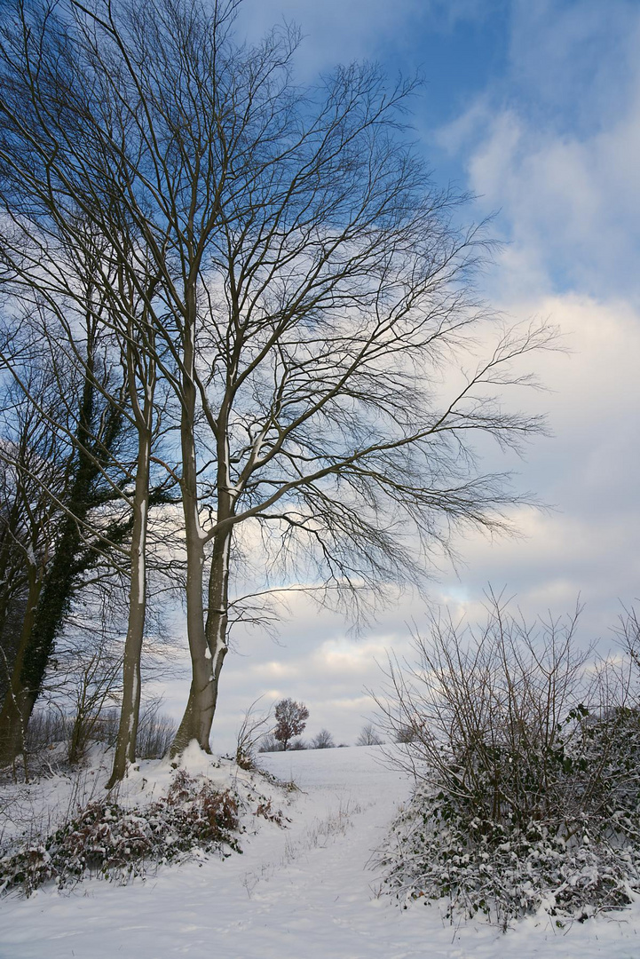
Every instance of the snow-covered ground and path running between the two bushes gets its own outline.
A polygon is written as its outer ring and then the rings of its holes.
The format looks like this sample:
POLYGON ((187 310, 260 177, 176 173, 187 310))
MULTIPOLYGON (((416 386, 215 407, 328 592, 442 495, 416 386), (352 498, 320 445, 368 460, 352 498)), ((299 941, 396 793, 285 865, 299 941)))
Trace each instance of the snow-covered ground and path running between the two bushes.
MULTIPOLYGON (((408 781, 379 747, 272 754, 263 764, 301 793, 286 830, 263 822, 242 855, 161 868, 127 886, 93 879, 0 902, 2 959, 637 959, 640 904, 569 929, 530 919, 502 935, 402 910, 371 865, 408 781)), ((141 770, 144 774, 145 769, 141 770)), ((281 804, 282 805, 282 804, 281 804)))

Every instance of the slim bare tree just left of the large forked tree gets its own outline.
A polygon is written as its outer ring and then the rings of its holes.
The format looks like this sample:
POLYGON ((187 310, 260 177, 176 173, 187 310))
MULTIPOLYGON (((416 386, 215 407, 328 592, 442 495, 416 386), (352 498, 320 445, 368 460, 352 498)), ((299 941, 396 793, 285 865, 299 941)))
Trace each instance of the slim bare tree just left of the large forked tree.
MULTIPOLYGON (((8 210, 15 213, 11 204, 8 210)), ((118 228, 114 221, 113 229, 118 228)), ((126 246, 126 230, 121 230, 121 238, 119 257, 109 261, 104 256, 104 240, 100 233, 76 211, 62 225, 53 218, 44 228, 38 218, 22 218, 8 232, 3 245, 5 284, 15 292, 15 298, 23 308, 30 311, 32 323, 34 316, 37 317, 35 325, 39 328, 39 335, 45 341, 55 341, 68 363, 67 368, 79 374, 84 384, 79 429, 70 432, 68 423, 51 412, 49 423, 54 432, 65 434, 71 441, 78 456, 79 475, 89 483, 102 479, 110 489, 106 499, 112 503, 122 501, 130 509, 130 517, 124 525, 119 519, 110 530, 111 539, 101 537, 108 548, 120 551, 121 563, 124 564, 128 553, 129 565, 121 731, 114 759, 116 779, 122 778, 127 762, 135 758, 147 604, 149 510, 154 505, 168 502, 166 484, 158 478, 157 470, 153 489, 150 488, 152 452, 157 452, 158 433, 164 427, 155 403, 155 334, 149 325, 144 300, 141 303, 130 277, 122 269, 123 258, 130 251, 126 246), (103 256, 104 268, 98 266, 103 256), (93 344, 98 342, 103 347, 108 344, 111 365, 122 366, 120 385, 117 377, 109 374, 101 378, 97 375, 93 344), (84 410, 87 404, 88 408, 84 410), (105 411, 108 411, 106 415, 105 411), (92 416, 95 422, 91 422, 92 416), (109 427, 102 435, 106 423, 117 426, 116 431, 109 427), (94 427, 96 430, 92 433, 94 427), (132 455, 122 442, 119 443, 120 449, 115 448, 119 433, 137 435, 135 454, 132 455), (114 468, 120 470, 122 479, 113 478, 114 468), (130 533, 127 535, 128 550, 120 543, 123 533, 130 533), (114 536, 119 540, 118 545, 113 541, 114 536)), ((147 282, 149 295, 152 278, 147 282)), ((18 385, 28 393, 24 378, 20 378, 12 361, 11 349, 3 348, 0 359, 6 368, 11 369, 18 385)), ((104 372, 107 368, 104 361, 102 365, 104 372)), ((58 376, 57 386, 63 398, 63 376, 58 376)), ((64 402, 61 408, 64 410, 64 402)), ((170 477, 170 485, 172 481, 170 477)), ((80 527, 87 526, 88 521, 86 508, 81 512, 77 508, 84 505, 74 501, 66 506, 69 529, 76 529, 79 534, 80 527)), ((58 560, 62 577, 68 585, 77 564, 68 555, 68 550, 62 550, 58 560)), ((43 672, 51 643, 45 644, 44 648, 47 653, 42 658, 40 672, 43 672)))

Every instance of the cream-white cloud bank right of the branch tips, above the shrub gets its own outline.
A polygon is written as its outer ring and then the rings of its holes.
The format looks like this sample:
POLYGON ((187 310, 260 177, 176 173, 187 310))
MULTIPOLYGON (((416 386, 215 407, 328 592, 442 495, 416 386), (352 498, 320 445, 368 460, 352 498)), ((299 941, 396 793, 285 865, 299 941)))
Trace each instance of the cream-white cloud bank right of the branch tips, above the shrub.
POLYGON ((632 602, 640 581, 640 312, 576 294, 511 308, 515 316, 551 316, 572 350, 537 363, 551 391, 529 402, 548 410, 555 435, 537 440, 518 480, 555 509, 516 510, 521 538, 490 543, 470 536, 462 546, 461 588, 472 601, 489 582, 506 586, 529 615, 549 606, 568 611, 580 594, 585 633, 606 635, 619 600, 632 602))

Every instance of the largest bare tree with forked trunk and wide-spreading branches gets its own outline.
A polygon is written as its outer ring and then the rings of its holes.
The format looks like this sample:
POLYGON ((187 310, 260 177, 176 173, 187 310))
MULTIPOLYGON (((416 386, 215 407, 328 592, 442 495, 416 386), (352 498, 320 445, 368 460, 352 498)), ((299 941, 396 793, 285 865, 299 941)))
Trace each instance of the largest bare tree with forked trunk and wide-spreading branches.
POLYGON ((506 330, 469 360, 487 246, 399 132, 415 84, 354 64, 301 92, 296 32, 240 47, 236 7, 16 3, 0 49, 7 269, 57 264, 80 211, 111 313, 131 316, 135 293, 180 409, 193 682, 174 752, 209 749, 242 538, 357 613, 367 589, 419 580, 456 527, 504 528, 517 498, 472 438, 540 429, 496 393, 549 343, 506 330), (25 231, 37 258, 16 252, 25 231))

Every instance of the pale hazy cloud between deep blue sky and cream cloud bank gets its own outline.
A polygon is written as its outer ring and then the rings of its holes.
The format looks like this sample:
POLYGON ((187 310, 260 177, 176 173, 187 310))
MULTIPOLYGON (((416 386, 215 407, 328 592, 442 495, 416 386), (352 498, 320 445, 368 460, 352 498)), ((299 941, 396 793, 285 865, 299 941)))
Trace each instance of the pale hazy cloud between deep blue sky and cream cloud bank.
POLYGON ((583 140, 498 114, 469 161, 469 184, 509 223, 514 251, 503 265, 513 272, 514 258, 531 261, 529 289, 543 267, 574 289, 633 292, 640 166, 629 156, 639 153, 640 99, 615 128, 583 140))

